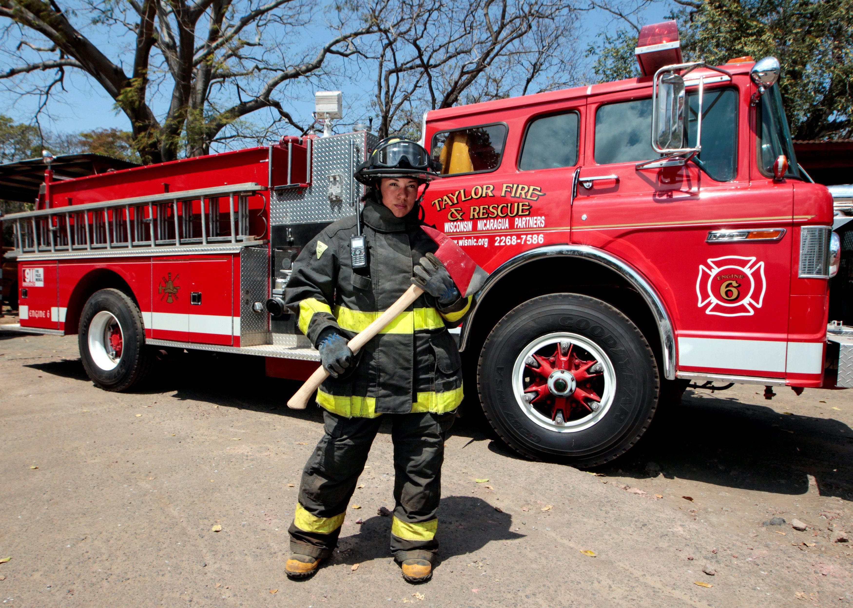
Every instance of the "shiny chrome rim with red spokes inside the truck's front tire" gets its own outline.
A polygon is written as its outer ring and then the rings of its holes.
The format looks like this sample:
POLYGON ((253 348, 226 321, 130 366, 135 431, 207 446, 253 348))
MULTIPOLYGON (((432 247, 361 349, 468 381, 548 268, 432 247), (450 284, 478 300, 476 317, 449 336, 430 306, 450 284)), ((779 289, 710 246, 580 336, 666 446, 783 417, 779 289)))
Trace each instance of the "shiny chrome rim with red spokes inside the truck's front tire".
POLYGON ((515 401, 527 418, 549 431, 594 426, 610 410, 615 391, 610 357, 577 333, 548 333, 531 341, 513 366, 515 401))

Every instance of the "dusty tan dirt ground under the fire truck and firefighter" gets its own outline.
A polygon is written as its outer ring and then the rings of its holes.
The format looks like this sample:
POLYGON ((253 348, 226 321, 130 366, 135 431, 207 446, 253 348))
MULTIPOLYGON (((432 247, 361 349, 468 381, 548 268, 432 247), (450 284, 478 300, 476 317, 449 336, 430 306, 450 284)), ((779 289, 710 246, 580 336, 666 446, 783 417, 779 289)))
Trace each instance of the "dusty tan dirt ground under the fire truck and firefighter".
MULTIPOLYGON (((8 320, 7 320, 8 321, 8 320)), ((96 389, 77 337, 0 327, 0 600, 10 606, 850 605, 853 393, 688 391, 595 472, 531 462, 459 420, 432 582, 388 553, 380 431, 316 576, 283 573, 299 474, 322 433, 251 357, 171 356, 96 389), (475 479, 488 479, 483 483, 475 479), (692 500, 689 500, 688 498, 692 500), (357 508, 360 507, 360 508, 357 508), (772 518, 785 524, 769 525, 772 518), (806 530, 794 530, 797 518, 806 530), (222 530, 212 531, 213 526, 222 530), (592 552, 592 554, 584 553, 592 552), (713 570, 713 576, 703 570, 713 570), (707 586, 699 586, 702 583, 707 586)), ((469 390, 470 392, 470 390, 469 390)))

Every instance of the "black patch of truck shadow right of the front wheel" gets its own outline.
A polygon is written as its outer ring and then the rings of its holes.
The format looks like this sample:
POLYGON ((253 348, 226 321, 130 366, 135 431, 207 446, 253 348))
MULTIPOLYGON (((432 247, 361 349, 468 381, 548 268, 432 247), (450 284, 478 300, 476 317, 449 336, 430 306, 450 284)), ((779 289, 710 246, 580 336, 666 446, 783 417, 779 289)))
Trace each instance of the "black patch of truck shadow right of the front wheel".
POLYGON ((853 431, 843 422, 687 391, 628 454, 596 471, 648 478, 654 462, 669 478, 790 495, 805 494, 813 475, 821 495, 850 501, 851 457, 853 431))

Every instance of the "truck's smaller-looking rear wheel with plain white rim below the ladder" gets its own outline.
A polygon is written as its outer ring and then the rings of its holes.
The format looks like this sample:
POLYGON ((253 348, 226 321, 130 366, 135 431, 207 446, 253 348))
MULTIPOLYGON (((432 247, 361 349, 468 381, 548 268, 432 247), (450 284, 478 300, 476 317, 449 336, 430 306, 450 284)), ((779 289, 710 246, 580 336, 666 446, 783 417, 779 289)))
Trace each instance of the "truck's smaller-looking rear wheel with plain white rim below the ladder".
POLYGON ((106 391, 126 391, 142 382, 154 364, 145 345, 142 313, 118 289, 102 289, 86 302, 78 346, 86 373, 106 391))

